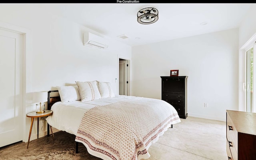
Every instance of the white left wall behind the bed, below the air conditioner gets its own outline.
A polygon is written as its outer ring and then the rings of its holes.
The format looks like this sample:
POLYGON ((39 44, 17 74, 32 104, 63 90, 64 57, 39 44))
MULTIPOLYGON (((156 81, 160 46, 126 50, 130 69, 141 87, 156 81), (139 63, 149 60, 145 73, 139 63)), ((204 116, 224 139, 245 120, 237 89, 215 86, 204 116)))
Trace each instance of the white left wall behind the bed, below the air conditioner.
MULTIPOLYGON (((131 59, 130 46, 106 37, 109 45, 106 50, 87 48, 82 44, 82 33, 93 30, 33 4, 1 4, 0 21, 28 28, 32 33, 32 45, 28 46, 32 53, 26 55, 26 113, 35 110, 32 92, 55 90, 55 86, 75 84, 75 81, 111 82, 117 94, 118 56, 131 59)), ((25 142, 30 122, 26 118, 25 142)), ((36 138, 36 132, 34 122, 30 140, 36 138)))

